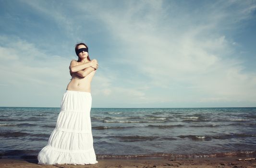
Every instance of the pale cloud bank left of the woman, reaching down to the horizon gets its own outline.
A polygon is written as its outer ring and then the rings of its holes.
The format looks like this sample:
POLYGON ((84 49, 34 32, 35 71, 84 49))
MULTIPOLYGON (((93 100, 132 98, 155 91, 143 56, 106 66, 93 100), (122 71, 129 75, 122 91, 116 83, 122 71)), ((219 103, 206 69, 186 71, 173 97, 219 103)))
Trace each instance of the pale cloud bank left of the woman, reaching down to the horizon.
POLYGON ((70 60, 47 55, 36 45, 16 36, 0 36, 2 106, 53 106, 68 81, 70 60), (57 96, 58 97, 58 96, 57 96), (47 105, 48 104, 48 105, 47 105), (26 105, 25 105, 26 106, 26 105))

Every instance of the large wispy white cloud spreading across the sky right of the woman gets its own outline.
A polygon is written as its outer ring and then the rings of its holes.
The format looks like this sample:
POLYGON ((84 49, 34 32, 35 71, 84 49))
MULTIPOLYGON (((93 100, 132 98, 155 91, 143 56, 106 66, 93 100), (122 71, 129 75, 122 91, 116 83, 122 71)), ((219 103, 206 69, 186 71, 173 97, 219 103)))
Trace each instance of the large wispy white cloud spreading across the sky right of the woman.
POLYGON ((256 5, 248 1, 216 1, 193 11, 165 2, 129 1, 122 8, 96 4, 97 12, 90 10, 118 43, 126 46, 116 63, 134 67, 131 76, 139 73, 150 78, 150 88, 169 91, 174 84, 183 89, 195 88, 192 93, 198 100, 223 96, 232 101, 255 101, 256 75, 243 72, 244 60, 234 46, 237 42, 225 34, 238 30, 241 22, 252 16, 256 5), (172 17, 172 13, 179 15, 172 17))

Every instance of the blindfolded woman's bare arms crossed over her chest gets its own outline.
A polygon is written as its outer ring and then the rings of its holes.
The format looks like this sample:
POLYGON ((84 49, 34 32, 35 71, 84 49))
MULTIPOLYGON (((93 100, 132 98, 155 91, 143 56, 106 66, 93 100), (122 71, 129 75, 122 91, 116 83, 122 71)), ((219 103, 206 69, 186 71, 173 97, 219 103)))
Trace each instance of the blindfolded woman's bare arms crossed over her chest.
POLYGON ((70 75, 72 76, 72 73, 75 73, 76 75, 80 77, 85 77, 89 73, 95 71, 98 69, 98 61, 97 60, 91 60, 89 62, 76 65, 76 61, 72 60, 69 66, 70 69, 70 75))

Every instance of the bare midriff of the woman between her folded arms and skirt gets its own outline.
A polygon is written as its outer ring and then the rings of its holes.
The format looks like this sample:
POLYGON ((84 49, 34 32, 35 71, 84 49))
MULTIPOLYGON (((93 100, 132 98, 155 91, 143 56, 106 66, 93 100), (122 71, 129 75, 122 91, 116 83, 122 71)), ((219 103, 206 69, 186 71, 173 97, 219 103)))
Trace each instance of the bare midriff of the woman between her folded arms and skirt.
MULTIPOLYGON (((76 65, 79 65, 79 62, 76 62, 76 65)), ((90 72, 87 76, 81 77, 72 74, 72 79, 69 82, 66 90, 80 91, 80 92, 91 92, 91 82, 96 71, 90 72)))

